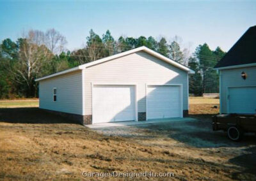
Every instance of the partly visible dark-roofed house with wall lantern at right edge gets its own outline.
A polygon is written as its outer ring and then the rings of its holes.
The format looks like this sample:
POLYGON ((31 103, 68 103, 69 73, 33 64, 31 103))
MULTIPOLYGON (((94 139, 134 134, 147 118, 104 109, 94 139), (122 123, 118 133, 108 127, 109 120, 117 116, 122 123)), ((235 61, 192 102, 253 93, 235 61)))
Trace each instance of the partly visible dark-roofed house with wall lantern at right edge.
POLYGON ((216 64, 220 113, 256 113, 256 26, 250 27, 216 64))

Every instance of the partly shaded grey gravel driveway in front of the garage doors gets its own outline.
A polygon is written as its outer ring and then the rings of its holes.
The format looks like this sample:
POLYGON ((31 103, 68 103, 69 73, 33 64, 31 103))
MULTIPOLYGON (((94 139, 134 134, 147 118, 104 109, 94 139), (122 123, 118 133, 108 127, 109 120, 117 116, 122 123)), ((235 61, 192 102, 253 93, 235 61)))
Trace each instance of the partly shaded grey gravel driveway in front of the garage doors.
POLYGON ((136 138, 135 140, 154 138, 172 138, 193 147, 230 147, 255 143, 255 137, 246 135, 240 143, 227 139, 223 131, 212 131, 211 119, 184 120, 174 122, 161 122, 158 124, 140 124, 132 126, 115 126, 95 128, 98 133, 111 136, 122 136, 125 138, 136 138))

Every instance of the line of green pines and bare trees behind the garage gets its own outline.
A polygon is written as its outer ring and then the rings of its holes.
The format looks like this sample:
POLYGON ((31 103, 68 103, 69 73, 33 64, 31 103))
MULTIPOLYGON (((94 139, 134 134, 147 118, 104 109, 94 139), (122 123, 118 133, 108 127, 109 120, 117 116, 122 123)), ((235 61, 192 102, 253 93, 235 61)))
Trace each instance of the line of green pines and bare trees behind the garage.
POLYGON ((38 96, 36 78, 141 46, 195 70, 189 75, 189 93, 200 96, 218 92, 218 74, 213 67, 225 52, 220 47, 211 50, 204 43, 189 54, 179 41, 177 36, 170 43, 164 37, 157 41, 152 36, 120 36, 115 40, 109 30, 102 36, 90 30, 83 48, 71 52, 65 36, 55 29, 31 30, 15 41, 6 38, 0 44, 0 99, 34 98, 38 96))

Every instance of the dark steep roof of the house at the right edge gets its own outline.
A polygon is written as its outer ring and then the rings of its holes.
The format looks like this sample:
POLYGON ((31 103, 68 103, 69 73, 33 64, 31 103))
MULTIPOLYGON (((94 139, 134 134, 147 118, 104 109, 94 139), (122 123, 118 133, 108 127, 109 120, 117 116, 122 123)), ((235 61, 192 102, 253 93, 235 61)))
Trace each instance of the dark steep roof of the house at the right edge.
POLYGON ((256 25, 250 27, 216 64, 216 69, 256 66, 256 25))

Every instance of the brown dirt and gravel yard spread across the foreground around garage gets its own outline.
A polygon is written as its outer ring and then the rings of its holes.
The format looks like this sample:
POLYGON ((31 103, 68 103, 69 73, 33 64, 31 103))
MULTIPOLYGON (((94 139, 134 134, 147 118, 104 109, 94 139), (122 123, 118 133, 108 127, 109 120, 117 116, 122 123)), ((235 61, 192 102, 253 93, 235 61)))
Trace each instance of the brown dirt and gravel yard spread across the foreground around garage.
POLYGON ((100 180, 84 178, 82 171, 172 172, 173 180, 256 180, 255 136, 248 134, 236 143, 221 131, 213 132, 211 116, 218 113, 214 105, 191 104, 195 122, 97 131, 38 108, 1 108, 0 180, 100 180))

